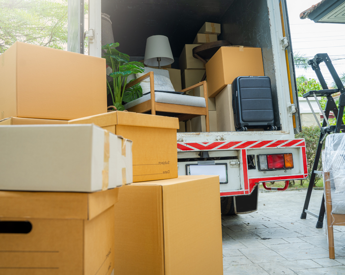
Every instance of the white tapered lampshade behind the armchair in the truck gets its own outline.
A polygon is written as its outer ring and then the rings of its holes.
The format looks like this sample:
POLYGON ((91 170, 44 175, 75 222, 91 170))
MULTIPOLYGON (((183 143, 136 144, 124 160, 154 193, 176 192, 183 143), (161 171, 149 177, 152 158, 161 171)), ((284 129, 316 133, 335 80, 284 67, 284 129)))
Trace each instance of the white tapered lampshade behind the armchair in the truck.
POLYGON ((160 66, 167 66, 174 62, 169 39, 164 35, 153 35, 146 40, 144 64, 157 67, 157 57, 161 58, 160 66))

